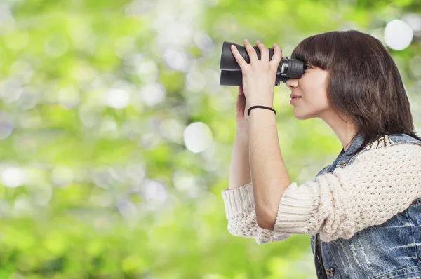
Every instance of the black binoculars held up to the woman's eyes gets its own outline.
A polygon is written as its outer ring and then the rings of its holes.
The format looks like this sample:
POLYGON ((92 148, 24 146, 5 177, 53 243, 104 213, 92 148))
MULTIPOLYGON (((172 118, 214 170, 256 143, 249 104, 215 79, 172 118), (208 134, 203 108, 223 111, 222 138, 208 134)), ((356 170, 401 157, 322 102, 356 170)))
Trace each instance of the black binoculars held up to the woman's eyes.
MULTIPOLYGON (((222 45, 221 54, 221 76, 220 86, 241 86, 243 85, 243 73, 241 72, 240 65, 236 62, 234 55, 232 54, 231 45, 236 46, 241 56, 250 64, 250 57, 248 57, 247 50, 244 46, 240 46, 236 43, 229 43, 224 41, 222 45)), ((257 46, 253 46, 260 60, 260 49, 257 46)), ((274 49, 269 49, 269 60, 272 60, 274 55, 274 49)), ((298 59, 288 59, 288 57, 282 57, 279 63, 278 69, 276 70, 276 81, 275 86, 279 86, 281 82, 285 83, 288 79, 300 79, 304 73, 304 62, 298 59)))

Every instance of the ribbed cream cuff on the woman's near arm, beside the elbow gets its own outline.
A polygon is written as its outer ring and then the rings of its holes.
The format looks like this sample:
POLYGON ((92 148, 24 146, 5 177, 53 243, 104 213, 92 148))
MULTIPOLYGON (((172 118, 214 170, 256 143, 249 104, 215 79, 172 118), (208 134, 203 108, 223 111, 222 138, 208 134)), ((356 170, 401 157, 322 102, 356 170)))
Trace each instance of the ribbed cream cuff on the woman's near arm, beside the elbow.
POLYGON ((293 182, 283 192, 279 202, 274 232, 309 233, 309 219, 314 214, 314 191, 312 183, 297 186, 293 182))

